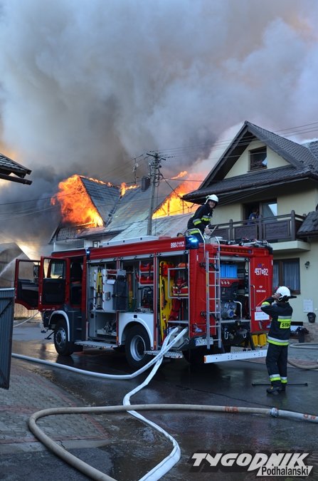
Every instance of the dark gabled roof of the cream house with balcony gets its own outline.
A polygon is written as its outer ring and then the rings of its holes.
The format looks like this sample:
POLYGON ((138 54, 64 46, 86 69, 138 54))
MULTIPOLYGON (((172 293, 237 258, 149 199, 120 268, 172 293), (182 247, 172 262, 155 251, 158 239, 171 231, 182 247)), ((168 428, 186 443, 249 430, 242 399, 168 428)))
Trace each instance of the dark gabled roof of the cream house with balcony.
POLYGON ((222 194, 235 194, 241 189, 248 192, 248 190, 263 188, 266 185, 280 185, 282 182, 302 179, 318 180, 318 141, 300 145, 245 121, 198 190, 189 192, 183 198, 188 202, 202 203, 206 195, 212 192, 222 197, 222 194), (265 143, 277 155, 287 160, 290 165, 247 172, 226 179, 230 169, 253 140, 265 143))

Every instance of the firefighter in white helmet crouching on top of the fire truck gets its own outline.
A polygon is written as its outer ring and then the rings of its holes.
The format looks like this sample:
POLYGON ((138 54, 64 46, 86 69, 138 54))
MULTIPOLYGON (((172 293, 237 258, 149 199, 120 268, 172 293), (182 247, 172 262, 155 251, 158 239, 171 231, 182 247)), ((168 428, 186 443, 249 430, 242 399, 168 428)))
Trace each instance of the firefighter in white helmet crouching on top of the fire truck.
POLYGON ((188 221, 188 235, 194 235, 199 242, 203 242, 203 234, 211 235, 209 224, 213 215, 213 210, 218 205, 218 197, 215 194, 206 197, 206 203, 198 207, 196 212, 188 221))

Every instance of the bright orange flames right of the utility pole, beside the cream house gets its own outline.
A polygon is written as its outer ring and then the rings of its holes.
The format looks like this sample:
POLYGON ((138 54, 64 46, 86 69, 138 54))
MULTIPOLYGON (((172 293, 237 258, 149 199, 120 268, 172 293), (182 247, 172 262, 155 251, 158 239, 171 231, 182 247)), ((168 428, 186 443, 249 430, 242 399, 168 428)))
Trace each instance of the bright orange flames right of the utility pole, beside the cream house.
MULTIPOLYGON (((178 179, 183 173, 184 172, 180 172, 180 174, 174 177, 174 179, 178 179)), ((166 215, 188 214, 194 212, 198 208, 198 205, 193 204, 193 202, 181 200, 181 197, 192 190, 196 190, 201 182, 202 181, 196 180, 182 182, 182 184, 176 187, 174 192, 171 192, 169 197, 166 198, 164 204, 154 212, 152 218, 157 219, 157 217, 165 217, 166 215)))

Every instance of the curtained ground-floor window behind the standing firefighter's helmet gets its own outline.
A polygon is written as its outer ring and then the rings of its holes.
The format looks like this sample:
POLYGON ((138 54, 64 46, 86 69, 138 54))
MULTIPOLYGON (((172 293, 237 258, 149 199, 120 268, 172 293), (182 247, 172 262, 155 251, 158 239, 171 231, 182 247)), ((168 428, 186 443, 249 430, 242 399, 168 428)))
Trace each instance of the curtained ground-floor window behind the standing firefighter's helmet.
POLYGON ((274 261, 272 269, 272 289, 287 286, 292 294, 300 294, 300 259, 274 261))

